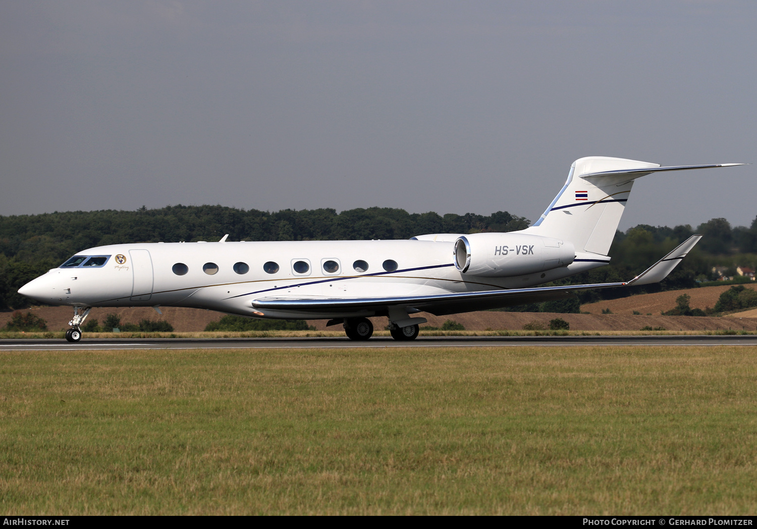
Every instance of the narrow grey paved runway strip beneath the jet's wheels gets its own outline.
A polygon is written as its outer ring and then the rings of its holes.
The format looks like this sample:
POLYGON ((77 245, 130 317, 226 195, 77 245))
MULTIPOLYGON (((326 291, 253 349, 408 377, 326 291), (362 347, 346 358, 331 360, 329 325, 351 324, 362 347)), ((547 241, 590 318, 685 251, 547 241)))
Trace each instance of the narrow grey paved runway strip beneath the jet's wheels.
POLYGON ((427 336, 412 342, 376 337, 348 338, 139 338, 133 340, 2 340, 0 351, 79 349, 320 349, 354 347, 517 347, 517 346, 757 346, 757 335, 722 336, 427 336))

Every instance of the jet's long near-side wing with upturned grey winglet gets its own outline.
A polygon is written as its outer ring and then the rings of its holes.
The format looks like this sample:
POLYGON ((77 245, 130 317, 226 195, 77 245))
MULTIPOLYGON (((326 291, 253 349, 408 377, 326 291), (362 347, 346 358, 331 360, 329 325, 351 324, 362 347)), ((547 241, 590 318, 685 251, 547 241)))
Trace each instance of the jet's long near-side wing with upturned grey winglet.
POLYGON ((500 308, 525 303, 565 299, 578 290, 612 288, 614 286, 643 285, 656 283, 670 274, 693 246, 699 242, 701 235, 691 236, 665 255, 646 271, 634 279, 623 283, 594 283, 587 285, 540 286, 526 289, 484 290, 482 292, 462 292, 450 294, 433 294, 430 296, 384 296, 372 298, 310 298, 294 299, 291 297, 266 297, 255 299, 252 306, 260 311, 289 310, 310 312, 313 315, 333 312, 388 311, 390 307, 401 307, 409 311, 425 311, 442 316, 459 312, 481 311, 488 308, 500 308), (413 310, 414 309, 414 310, 413 310))

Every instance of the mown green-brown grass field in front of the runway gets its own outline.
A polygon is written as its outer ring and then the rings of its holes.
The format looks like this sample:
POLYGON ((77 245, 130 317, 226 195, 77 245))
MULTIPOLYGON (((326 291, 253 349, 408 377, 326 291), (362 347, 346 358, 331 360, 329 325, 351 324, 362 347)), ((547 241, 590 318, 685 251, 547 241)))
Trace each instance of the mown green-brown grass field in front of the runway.
POLYGON ((0 514, 753 514, 751 347, 0 352, 0 514))

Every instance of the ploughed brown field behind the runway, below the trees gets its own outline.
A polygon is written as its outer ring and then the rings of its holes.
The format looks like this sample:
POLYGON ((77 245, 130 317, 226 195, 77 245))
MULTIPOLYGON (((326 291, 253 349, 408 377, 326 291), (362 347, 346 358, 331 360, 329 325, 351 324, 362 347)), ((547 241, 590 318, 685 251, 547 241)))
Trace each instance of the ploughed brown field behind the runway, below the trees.
MULTIPOLYGON (((584 305, 582 310, 592 314, 556 314, 551 312, 494 312, 478 311, 466 314, 434 316, 419 313, 428 319, 428 324, 441 327, 444 321, 453 320, 463 324, 466 330, 520 330, 523 325, 537 321, 549 324, 553 318, 562 318, 570 324, 571 330, 640 330, 642 327, 664 327, 665 330, 757 330, 757 314, 751 318, 694 318, 688 316, 661 316, 660 311, 667 311, 675 306, 675 299, 682 293, 691 296, 691 306, 705 308, 712 307, 728 286, 707 286, 693 290, 674 290, 671 292, 643 294, 625 299, 584 305), (603 308, 609 308, 614 314, 603 315, 603 308), (642 315, 631 315, 631 311, 640 311, 642 315), (651 312, 653 315, 647 316, 651 312)), ((63 330, 68 328, 68 321, 73 314, 70 307, 33 307, 24 309, 47 321, 49 330, 63 330)), ((100 323, 105 316, 115 313, 124 323, 139 323, 143 318, 151 320, 167 320, 176 332, 196 332, 204 330, 210 321, 218 321, 223 315, 219 312, 206 311, 197 308, 161 307, 163 315, 158 315, 150 307, 130 308, 93 308, 89 318, 95 318, 100 323)), ((0 327, 11 319, 11 312, 0 312, 0 327)), ((388 323, 387 318, 371 318, 376 330, 381 330, 388 323)), ((326 320, 311 320, 310 325, 317 330, 326 330, 326 320)), ((340 330, 341 326, 329 327, 329 330, 340 330)))

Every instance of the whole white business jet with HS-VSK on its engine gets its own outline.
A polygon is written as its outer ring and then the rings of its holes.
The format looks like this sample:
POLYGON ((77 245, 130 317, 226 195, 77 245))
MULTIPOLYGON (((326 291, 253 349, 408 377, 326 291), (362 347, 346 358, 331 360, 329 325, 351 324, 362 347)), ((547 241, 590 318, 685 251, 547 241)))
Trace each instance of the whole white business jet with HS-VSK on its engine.
POLYGON ((142 243, 77 253, 18 291, 73 306, 70 342, 92 307, 209 308, 251 318, 328 319, 353 340, 387 316, 395 340, 413 340, 421 311, 449 315, 564 299, 577 290, 664 279, 699 241, 694 235, 623 283, 537 287, 607 265, 612 238, 638 177, 743 164, 660 167, 590 156, 525 230, 435 233, 410 240, 142 243))

